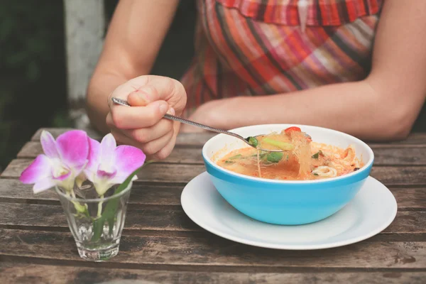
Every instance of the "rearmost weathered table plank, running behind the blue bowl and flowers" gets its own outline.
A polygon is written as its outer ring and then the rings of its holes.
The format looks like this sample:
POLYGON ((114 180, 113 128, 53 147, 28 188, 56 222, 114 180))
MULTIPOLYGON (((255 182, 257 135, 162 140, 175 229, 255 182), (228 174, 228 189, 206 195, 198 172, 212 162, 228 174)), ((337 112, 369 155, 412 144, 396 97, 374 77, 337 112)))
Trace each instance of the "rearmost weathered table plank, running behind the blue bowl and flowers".
MULTIPOLYGON (((60 135, 60 133, 64 133, 65 131, 71 130, 71 129, 58 129, 58 128, 42 128, 38 129, 38 131, 35 132, 33 137, 31 138, 31 141, 40 141, 40 133, 41 131, 45 129, 52 133, 54 137, 57 137, 60 135)), ((97 132, 89 132, 88 133, 90 137, 94 139, 100 139, 102 138, 102 135, 97 132)), ((209 140, 209 138, 212 138, 213 136, 216 136, 217 133, 212 132, 204 132, 204 133, 181 133, 178 136, 178 140, 176 141, 176 145, 186 145, 186 146, 202 146, 204 143, 209 140)), ((387 147, 387 146, 404 146, 404 145, 420 145, 424 146, 426 145, 426 133, 411 133, 410 136, 408 136, 407 139, 403 141, 393 141, 389 143, 368 143, 373 148, 380 148, 380 147, 387 147)))

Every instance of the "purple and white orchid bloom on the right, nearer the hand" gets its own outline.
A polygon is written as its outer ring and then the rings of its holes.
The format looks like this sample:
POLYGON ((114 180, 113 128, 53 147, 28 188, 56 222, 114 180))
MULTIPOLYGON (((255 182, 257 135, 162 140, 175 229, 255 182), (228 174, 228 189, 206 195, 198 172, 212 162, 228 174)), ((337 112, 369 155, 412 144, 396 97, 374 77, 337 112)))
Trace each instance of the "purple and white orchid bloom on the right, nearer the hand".
MULTIPOLYGON (((111 133, 101 143, 89 138, 89 163, 84 169, 87 180, 93 182, 102 196, 113 185, 121 184, 145 163, 146 155, 133 146, 116 146, 111 133)), ((136 175, 132 180, 136 180, 136 175)))

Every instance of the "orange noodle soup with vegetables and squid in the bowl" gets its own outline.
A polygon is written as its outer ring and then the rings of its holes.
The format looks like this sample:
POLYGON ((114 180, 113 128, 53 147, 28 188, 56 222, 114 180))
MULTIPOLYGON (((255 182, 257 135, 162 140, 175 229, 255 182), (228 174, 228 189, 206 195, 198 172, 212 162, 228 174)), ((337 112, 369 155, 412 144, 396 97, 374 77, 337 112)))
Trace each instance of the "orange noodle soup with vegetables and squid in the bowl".
POLYGON ((249 139, 251 145, 231 151, 217 165, 242 175, 273 180, 318 180, 352 173, 364 166, 353 146, 317 143, 298 127, 249 139), (263 150, 282 150, 268 152, 263 150))

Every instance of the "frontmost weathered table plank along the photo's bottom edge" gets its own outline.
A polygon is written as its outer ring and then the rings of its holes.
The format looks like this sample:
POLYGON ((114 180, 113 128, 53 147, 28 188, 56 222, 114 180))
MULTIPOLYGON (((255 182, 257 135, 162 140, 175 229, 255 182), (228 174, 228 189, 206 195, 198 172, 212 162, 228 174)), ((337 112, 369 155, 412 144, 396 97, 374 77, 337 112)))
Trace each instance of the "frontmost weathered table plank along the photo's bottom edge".
MULTIPOLYGON (((102 263, 97 263, 99 266, 102 263)), ((37 265, 30 263, 0 263, 4 283, 413 283, 423 284, 426 272, 343 272, 343 273, 224 273, 192 271, 148 271, 102 267, 37 265)))

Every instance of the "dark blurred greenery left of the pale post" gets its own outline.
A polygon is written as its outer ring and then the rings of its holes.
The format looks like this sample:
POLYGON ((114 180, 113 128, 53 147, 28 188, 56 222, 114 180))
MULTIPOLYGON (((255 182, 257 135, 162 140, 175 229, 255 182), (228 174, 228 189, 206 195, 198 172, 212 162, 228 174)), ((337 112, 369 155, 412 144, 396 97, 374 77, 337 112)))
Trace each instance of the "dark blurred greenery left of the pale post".
POLYGON ((0 172, 40 126, 67 126, 62 1, 1 1, 0 172))

